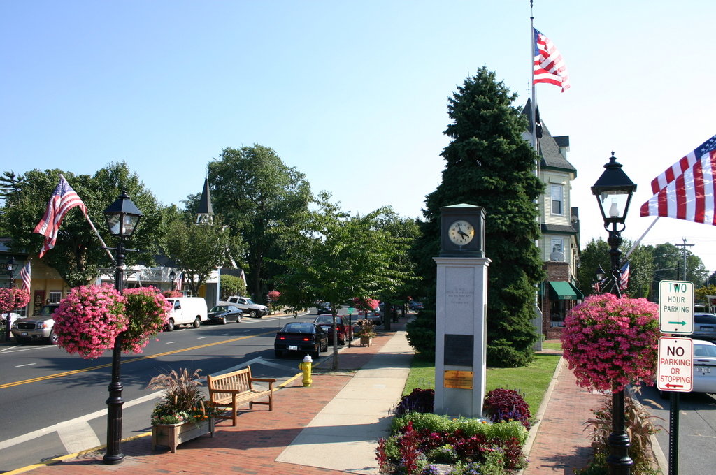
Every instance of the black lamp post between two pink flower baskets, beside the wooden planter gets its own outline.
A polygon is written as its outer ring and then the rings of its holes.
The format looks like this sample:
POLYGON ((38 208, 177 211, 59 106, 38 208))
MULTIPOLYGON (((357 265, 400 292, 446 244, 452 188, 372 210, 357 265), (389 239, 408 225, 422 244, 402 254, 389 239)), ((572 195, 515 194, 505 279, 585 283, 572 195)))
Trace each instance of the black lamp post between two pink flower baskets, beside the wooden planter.
MULTIPOLYGON (((124 266, 125 266, 125 240, 132 236, 137 227, 137 223, 142 217, 142 212, 127 196, 127 192, 122 191, 122 195, 117 197, 110 207, 105 210, 105 219, 107 227, 112 236, 120 238, 117 248, 109 248, 116 250, 115 253, 115 288, 117 292, 122 293, 125 287, 124 266)), ((107 452, 103 461, 105 464, 121 464, 125 459, 122 454, 122 380, 120 377, 120 356, 122 355, 122 333, 115 340, 115 347, 112 348, 112 382, 107 388, 110 391, 110 397, 107 398, 107 452)))

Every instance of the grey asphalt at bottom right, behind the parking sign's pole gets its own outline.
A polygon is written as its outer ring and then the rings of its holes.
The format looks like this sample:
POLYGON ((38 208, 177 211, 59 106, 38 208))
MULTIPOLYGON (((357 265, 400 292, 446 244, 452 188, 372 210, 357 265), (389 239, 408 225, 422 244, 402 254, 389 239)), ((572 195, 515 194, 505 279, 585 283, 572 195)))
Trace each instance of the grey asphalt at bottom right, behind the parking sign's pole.
MULTIPOLYGON (((642 403, 649 412, 663 421, 655 421, 665 430, 659 431, 657 441, 669 458, 669 399, 659 397, 653 387, 642 387, 642 403), (659 407, 660 406, 660 407, 659 407)), ((712 474, 716 449, 716 397, 704 393, 679 394, 679 426, 677 464, 679 474, 712 474)), ((667 475, 668 472, 664 472, 667 475)))

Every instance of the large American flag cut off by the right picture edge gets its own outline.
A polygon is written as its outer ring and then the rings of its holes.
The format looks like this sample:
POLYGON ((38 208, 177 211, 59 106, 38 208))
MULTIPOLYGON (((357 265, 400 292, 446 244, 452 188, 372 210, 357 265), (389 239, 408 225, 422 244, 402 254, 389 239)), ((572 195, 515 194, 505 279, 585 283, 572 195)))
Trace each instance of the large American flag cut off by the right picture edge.
POLYGON ((642 216, 716 225, 716 135, 652 180, 652 196, 642 205, 642 216))

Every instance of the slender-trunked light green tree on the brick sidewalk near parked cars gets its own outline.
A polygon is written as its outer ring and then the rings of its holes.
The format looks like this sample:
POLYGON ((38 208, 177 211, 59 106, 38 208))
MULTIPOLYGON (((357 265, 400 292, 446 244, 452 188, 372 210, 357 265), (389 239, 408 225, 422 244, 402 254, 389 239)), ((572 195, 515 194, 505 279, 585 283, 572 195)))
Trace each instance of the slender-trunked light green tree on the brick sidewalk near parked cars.
POLYGON ((340 305, 353 297, 395 291, 404 282, 407 239, 380 223, 394 217, 382 208, 350 216, 321 193, 317 210, 306 211, 303 232, 281 232, 287 268, 281 275, 281 303, 306 308, 328 302, 334 317, 333 368, 338 368, 335 318, 340 305))

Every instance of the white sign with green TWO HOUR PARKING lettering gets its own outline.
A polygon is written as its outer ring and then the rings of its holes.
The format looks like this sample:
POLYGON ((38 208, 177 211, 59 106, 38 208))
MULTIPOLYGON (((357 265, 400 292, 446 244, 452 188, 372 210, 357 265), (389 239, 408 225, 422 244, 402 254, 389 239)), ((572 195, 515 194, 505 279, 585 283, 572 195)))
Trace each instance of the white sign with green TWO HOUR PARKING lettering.
POLYGON ((659 330, 690 335, 694 331, 694 283, 683 280, 659 282, 659 330))

